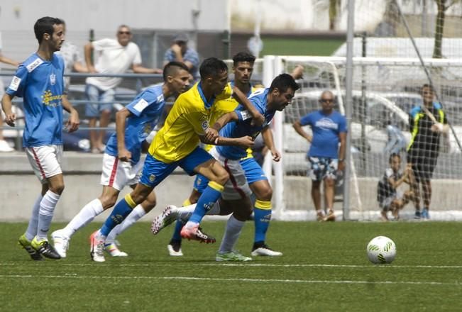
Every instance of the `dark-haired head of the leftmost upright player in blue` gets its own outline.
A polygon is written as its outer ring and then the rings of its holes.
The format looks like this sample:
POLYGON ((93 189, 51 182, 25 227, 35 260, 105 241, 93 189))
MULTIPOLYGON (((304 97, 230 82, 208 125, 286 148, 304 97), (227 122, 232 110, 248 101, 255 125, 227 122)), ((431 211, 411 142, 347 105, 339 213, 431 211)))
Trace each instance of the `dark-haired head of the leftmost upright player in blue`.
POLYGON ((33 31, 39 45, 46 44, 53 52, 60 50, 64 42, 63 21, 60 18, 39 18, 33 26, 33 31))

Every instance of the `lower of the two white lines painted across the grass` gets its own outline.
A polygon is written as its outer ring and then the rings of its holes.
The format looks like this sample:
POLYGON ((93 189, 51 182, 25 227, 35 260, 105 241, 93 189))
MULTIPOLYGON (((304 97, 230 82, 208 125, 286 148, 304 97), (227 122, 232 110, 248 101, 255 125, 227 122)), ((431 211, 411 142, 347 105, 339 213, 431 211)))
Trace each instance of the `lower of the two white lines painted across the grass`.
POLYGON ((78 276, 74 274, 66 275, 0 275, 0 278, 23 278, 23 279, 164 279, 164 280, 194 280, 210 282, 251 282, 251 283, 292 283, 292 284, 407 284, 407 285, 451 285, 462 286, 459 282, 412 282, 412 281, 351 281, 351 280, 317 280, 317 279, 221 279, 216 277, 95 277, 95 276, 78 276))

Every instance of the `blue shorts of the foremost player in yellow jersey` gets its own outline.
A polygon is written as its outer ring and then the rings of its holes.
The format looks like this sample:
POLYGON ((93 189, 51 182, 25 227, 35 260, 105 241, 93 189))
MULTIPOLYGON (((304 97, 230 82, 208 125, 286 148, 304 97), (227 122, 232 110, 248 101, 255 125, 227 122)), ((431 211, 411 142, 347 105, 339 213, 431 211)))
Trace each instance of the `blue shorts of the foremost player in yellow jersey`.
MULTIPOLYGON (((170 162, 166 164, 160 160, 156 160, 152 155, 148 154, 144 161, 143 173, 141 174, 140 183, 145 186, 155 187, 160 182, 168 177, 176 167, 181 167, 189 175, 194 175, 194 168, 214 159, 208 152, 201 147, 196 147, 189 155, 182 160, 170 162)), ((207 182, 208 183, 208 182, 207 182)))

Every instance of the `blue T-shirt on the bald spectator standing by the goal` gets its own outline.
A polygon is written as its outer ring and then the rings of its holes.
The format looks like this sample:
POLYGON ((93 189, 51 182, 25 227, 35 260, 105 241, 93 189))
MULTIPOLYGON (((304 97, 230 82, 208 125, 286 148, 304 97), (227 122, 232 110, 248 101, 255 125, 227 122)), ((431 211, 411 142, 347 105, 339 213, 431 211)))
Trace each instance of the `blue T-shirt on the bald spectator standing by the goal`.
POLYGON ((339 134, 346 133, 346 119, 337 111, 325 115, 314 111, 300 118, 302 126, 311 126, 313 141, 309 148, 309 157, 338 158, 339 134))

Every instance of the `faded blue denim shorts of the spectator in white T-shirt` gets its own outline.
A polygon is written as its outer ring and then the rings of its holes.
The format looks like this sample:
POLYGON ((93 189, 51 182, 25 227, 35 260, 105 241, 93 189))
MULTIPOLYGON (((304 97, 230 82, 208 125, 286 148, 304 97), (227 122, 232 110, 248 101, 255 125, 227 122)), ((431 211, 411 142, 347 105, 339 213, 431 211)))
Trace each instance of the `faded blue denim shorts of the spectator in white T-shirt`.
POLYGON ((99 117, 101 116, 101 111, 112 111, 114 93, 114 89, 103 91, 92 84, 87 84, 85 86, 85 95, 89 103, 85 106, 85 116, 90 118, 99 117))

